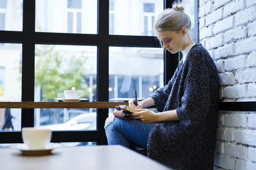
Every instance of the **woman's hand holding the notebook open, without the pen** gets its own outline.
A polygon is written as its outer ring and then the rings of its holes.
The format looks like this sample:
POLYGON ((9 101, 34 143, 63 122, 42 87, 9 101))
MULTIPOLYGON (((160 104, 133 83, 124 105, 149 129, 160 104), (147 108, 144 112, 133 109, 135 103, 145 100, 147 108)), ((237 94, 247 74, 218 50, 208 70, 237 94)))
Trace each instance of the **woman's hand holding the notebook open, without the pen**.
POLYGON ((140 119, 144 123, 155 123, 158 122, 157 113, 148 109, 136 109, 139 112, 131 113, 132 119, 140 119))

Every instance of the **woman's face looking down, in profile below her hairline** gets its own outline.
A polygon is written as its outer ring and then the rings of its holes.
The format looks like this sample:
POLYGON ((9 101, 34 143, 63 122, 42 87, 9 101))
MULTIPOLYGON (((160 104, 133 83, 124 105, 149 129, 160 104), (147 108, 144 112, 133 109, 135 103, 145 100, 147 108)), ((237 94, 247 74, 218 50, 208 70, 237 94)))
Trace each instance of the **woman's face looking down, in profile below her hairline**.
MULTIPOLYGON (((160 40, 163 44, 163 48, 166 48, 172 54, 177 53, 178 51, 183 51, 184 48, 184 39, 183 30, 184 28, 180 28, 179 30, 165 30, 165 31, 156 31, 156 35, 158 40, 160 40)), ((186 29, 185 29, 186 32, 186 29)))

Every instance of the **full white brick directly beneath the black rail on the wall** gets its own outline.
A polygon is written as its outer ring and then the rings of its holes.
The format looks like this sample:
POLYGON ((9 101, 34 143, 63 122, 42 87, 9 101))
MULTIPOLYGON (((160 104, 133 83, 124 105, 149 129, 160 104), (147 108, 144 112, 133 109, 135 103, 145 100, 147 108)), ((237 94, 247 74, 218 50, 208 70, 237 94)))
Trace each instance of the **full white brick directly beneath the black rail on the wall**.
POLYGON ((224 119, 227 127, 247 127, 247 115, 244 113, 226 114, 224 119))

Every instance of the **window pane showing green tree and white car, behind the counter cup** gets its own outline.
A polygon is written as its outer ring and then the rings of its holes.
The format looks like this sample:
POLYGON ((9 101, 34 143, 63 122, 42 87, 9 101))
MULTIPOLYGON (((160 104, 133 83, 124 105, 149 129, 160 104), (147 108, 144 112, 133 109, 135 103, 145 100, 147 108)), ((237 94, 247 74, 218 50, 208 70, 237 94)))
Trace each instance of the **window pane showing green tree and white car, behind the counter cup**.
MULTIPOLYGON (((79 90, 81 99, 96 101, 96 54, 96 46, 35 45, 35 101, 58 101, 64 90, 79 90)), ((35 126, 95 130, 96 109, 35 109, 35 126)))

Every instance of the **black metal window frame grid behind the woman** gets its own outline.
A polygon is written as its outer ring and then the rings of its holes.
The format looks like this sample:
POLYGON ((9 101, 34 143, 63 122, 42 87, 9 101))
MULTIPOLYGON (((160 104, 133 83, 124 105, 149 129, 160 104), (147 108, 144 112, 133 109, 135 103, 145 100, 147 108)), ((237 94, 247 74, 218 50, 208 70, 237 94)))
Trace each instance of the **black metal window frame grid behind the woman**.
MULTIPOLYGON (((23 0, 23 31, 0 31, 0 43, 22 44, 21 101, 33 102, 35 89, 35 44, 49 45, 95 45, 97 46, 97 101, 108 102, 109 47, 160 48, 154 36, 109 35, 109 1, 98 0, 98 34, 70 34, 35 31, 35 1, 23 0), (104 40, 104 41, 102 41, 104 40), (100 95, 99 95, 100 94, 100 95)), ((171 8, 175 0, 163 0, 164 8, 171 8)), ((198 2, 195 0, 195 17, 198 2)), ((196 22, 197 23, 197 22, 196 22)), ((198 28, 198 26, 197 26, 198 28)), ((179 53, 163 50, 164 85, 172 78, 178 64, 179 53)), ((108 144, 103 127, 108 109, 97 109, 97 130, 53 131, 51 142, 97 142, 108 144)), ((21 128, 34 127, 34 109, 21 109, 21 128)), ((1 131, 0 143, 22 143, 20 131, 1 131)))

